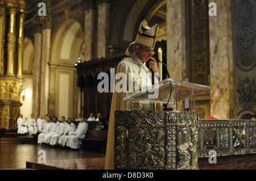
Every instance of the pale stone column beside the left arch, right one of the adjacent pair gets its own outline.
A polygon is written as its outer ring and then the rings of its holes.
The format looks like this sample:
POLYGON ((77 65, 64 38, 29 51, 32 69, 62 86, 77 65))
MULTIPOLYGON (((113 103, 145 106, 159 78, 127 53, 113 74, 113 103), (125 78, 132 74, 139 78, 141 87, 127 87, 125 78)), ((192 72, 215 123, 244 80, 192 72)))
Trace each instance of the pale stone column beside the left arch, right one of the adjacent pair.
POLYGON ((49 56, 51 45, 51 18, 49 16, 42 17, 42 60, 40 73, 40 115, 48 113, 48 95, 49 95, 49 56))

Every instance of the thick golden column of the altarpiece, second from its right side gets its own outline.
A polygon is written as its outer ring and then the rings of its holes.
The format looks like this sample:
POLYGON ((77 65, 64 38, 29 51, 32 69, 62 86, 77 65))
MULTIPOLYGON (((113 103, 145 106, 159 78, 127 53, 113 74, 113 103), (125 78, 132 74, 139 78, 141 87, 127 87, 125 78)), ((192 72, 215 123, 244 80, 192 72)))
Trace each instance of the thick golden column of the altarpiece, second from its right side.
POLYGON ((7 3, 9 8, 9 31, 8 31, 8 53, 7 53, 7 76, 14 76, 14 63, 16 52, 16 4, 7 3))

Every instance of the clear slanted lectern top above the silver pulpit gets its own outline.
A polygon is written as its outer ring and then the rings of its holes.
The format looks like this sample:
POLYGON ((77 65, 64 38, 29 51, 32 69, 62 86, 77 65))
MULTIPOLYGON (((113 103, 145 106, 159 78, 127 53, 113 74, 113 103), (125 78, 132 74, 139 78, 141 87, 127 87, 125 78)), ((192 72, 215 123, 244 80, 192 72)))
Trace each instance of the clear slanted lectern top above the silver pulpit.
MULTIPOLYGON (((175 100, 179 102, 180 100, 189 98, 192 95, 192 92, 194 95, 197 95, 200 92, 209 90, 209 86, 168 78, 155 84, 151 89, 148 89, 147 87, 147 89, 142 89, 139 92, 129 93, 124 100, 167 104, 170 97, 175 96, 175 100), (153 96, 154 94, 156 96, 153 96)), ((169 103, 172 103, 172 99, 169 100, 169 103)))

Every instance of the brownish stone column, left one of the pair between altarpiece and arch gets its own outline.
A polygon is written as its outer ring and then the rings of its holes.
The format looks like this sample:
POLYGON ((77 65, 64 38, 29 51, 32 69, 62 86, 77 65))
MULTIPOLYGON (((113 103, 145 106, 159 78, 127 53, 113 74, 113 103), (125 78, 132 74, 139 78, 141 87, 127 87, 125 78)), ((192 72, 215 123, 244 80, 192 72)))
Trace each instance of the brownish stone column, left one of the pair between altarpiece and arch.
POLYGON ((33 79, 33 115, 39 116, 40 111, 40 73, 41 73, 41 57, 42 57, 42 28, 40 27, 39 20, 35 20, 35 33, 34 33, 34 46, 35 46, 35 57, 32 73, 33 79))

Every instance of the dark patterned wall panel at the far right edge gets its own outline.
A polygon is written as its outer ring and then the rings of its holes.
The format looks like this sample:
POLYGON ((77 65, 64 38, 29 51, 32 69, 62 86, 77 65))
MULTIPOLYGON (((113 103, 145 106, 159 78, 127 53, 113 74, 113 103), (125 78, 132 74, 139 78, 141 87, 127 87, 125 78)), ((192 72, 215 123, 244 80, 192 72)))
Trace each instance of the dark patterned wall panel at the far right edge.
POLYGON ((234 98, 238 119, 256 113, 256 2, 232 1, 234 98))

